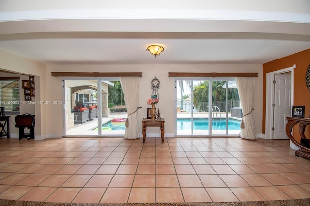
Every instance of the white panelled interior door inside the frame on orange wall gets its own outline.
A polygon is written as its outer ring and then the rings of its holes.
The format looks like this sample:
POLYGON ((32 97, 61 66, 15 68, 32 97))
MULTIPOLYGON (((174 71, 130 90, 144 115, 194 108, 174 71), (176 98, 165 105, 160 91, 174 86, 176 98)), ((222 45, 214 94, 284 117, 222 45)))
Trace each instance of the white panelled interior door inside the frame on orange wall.
POLYGON ((273 139, 288 139, 286 117, 291 115, 291 73, 275 75, 273 139))

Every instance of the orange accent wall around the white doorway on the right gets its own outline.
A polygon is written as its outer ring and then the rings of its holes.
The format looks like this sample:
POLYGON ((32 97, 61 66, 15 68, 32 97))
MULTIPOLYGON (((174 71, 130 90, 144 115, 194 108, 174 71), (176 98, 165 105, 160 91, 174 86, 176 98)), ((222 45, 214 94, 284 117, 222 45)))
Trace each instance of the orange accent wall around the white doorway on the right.
MULTIPOLYGON (((266 119, 266 74, 292 67, 294 64, 296 64, 294 69, 294 105, 305 106, 305 117, 310 115, 310 91, 306 85, 306 71, 310 64, 310 49, 307 49, 263 64, 263 134, 265 134, 266 119)), ((294 130, 294 135, 299 135, 298 130, 294 130)), ((306 137, 310 136, 310 126, 306 127, 305 135, 306 137)))

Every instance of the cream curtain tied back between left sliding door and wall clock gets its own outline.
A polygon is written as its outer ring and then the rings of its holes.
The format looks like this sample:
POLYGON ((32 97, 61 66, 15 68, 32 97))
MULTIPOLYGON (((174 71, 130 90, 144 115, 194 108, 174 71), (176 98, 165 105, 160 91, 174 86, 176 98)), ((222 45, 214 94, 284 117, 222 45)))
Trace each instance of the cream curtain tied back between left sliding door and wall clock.
POLYGON ((124 99, 128 113, 128 127, 125 131, 125 139, 140 138, 138 125, 138 108, 140 77, 120 77, 124 99))

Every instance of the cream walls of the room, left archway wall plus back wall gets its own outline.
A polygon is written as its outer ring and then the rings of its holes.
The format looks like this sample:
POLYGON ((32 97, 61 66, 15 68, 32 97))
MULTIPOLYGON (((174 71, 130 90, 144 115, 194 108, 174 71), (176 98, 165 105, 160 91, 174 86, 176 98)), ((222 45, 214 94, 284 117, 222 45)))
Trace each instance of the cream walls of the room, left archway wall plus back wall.
MULTIPOLYGON (((1 50, 1 70, 17 74, 35 76, 35 101, 62 101, 62 77, 52 77, 51 72, 142 72, 140 80, 139 118, 146 117, 147 99, 152 93, 151 80, 156 76, 160 80, 160 109, 161 117, 165 118, 165 136, 174 135, 174 78, 168 77, 168 72, 258 72, 255 78, 255 97, 253 116, 256 132, 262 131, 262 65, 44 65, 30 59, 18 57, 1 50)), ((21 111, 25 111, 21 107, 21 111)), ((35 105, 36 139, 62 137, 63 105, 35 105)), ((13 128, 14 124, 10 124, 13 128)), ((140 130, 142 130, 140 125, 140 130)), ((11 132, 12 133, 12 132, 11 132)), ((156 133, 158 128, 150 128, 147 133, 156 133)), ((258 137, 262 134, 258 133, 258 137)))

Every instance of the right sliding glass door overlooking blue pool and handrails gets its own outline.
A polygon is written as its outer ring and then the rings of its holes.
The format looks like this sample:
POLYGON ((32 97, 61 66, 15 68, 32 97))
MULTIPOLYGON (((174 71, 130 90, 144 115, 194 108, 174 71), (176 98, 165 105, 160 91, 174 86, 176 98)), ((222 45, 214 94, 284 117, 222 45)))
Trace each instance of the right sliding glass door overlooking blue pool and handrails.
POLYGON ((177 135, 240 133, 242 115, 234 80, 176 80, 176 96, 177 135))

